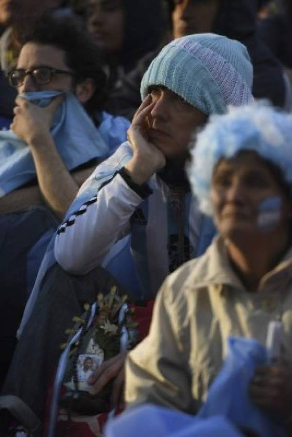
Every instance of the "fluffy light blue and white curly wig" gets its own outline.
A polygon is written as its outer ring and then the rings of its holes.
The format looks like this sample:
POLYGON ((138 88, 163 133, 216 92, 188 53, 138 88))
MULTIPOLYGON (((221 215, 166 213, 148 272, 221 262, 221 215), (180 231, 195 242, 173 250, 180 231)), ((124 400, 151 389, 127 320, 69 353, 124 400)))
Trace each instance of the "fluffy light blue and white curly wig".
POLYGON ((280 112, 267 102, 229 107, 227 114, 213 115, 196 136, 188 168, 193 194, 200 209, 213 214, 210 188, 214 169, 222 158, 240 151, 255 151, 281 170, 292 184, 292 114, 280 112))

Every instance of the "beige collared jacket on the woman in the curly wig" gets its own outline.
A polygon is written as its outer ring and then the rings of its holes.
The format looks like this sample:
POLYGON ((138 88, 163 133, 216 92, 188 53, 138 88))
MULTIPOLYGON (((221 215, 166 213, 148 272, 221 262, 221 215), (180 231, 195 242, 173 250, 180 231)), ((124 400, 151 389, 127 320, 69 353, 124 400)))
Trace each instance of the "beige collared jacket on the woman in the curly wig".
POLYGON ((227 337, 265 345, 272 320, 283 322, 292 367, 292 250, 262 278, 258 293, 249 293, 218 237, 162 285, 150 333, 126 363, 127 405, 150 402, 195 413, 222 367, 227 337))

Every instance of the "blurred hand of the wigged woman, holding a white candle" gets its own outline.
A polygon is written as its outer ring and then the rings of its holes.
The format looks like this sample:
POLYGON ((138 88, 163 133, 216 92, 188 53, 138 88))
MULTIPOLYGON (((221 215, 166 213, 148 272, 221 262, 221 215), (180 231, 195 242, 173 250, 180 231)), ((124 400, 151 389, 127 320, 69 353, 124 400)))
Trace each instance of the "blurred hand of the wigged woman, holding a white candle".
POLYGON ((258 367, 249 393, 253 402, 275 415, 287 419, 292 414, 292 372, 282 364, 258 367))

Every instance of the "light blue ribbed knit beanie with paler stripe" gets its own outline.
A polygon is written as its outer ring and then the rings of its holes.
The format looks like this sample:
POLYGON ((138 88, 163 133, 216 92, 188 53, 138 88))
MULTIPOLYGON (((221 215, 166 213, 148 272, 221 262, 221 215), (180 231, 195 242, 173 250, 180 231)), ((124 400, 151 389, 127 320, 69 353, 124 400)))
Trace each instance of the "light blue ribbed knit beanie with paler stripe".
POLYGON ((247 49, 216 34, 173 40, 148 67, 141 82, 142 100, 151 85, 163 85, 205 114, 222 114, 227 105, 253 101, 253 67, 247 49))

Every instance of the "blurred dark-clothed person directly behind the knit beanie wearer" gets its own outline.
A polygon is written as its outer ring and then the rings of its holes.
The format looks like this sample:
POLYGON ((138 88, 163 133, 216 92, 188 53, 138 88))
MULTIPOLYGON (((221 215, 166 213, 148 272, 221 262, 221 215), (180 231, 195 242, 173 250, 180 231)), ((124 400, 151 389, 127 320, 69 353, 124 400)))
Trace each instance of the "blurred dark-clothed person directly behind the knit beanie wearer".
MULTIPOLYGON (((258 9, 263 0, 167 0, 172 37, 214 32, 244 44, 254 67, 253 95, 273 104, 290 108, 290 86, 280 62, 260 38, 258 9)), ((113 113, 131 119, 140 104, 141 78, 153 54, 143 58, 135 70, 123 77, 107 102, 113 113)))

